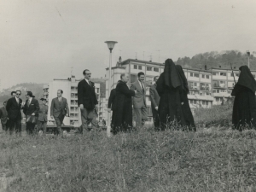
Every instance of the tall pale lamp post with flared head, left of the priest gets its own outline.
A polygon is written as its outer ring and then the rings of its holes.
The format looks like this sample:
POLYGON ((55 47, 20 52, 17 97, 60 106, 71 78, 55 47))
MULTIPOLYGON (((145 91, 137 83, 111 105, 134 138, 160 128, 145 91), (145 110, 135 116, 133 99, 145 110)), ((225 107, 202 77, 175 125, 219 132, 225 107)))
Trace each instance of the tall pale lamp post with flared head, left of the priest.
MULTIPOLYGON (((111 91, 111 67, 112 67, 112 50, 114 47, 114 44, 117 44, 116 41, 105 41, 106 44, 108 44, 108 49, 110 50, 110 55, 109 55, 109 67, 108 67, 108 98, 110 96, 110 91, 111 91)), ((108 125, 107 125, 107 135, 110 137, 110 116, 111 113, 108 113, 108 125)))

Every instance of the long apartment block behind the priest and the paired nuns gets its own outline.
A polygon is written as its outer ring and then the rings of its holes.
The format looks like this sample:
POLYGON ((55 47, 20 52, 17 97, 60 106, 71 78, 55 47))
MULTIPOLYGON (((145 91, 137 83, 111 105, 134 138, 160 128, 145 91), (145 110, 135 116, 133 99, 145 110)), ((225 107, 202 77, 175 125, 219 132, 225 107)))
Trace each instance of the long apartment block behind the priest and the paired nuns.
MULTIPOLYGON (((164 72, 165 65, 163 63, 152 61, 140 61, 128 59, 125 61, 119 61, 116 67, 112 67, 111 70, 111 90, 115 88, 120 75, 122 73, 129 73, 130 79, 127 83, 131 86, 131 83, 137 79, 137 73, 145 73, 146 87, 146 102, 148 111, 148 122, 152 123, 152 110, 149 97, 149 88, 153 84, 155 76, 160 76, 160 73, 164 72)), ((211 73, 206 70, 189 69, 184 68, 184 73, 189 83, 189 105, 191 108, 210 108, 212 106, 213 97, 211 96, 211 73)), ((106 69, 106 102, 108 102, 108 68, 106 69)), ((107 114, 106 114, 107 117, 107 114)))

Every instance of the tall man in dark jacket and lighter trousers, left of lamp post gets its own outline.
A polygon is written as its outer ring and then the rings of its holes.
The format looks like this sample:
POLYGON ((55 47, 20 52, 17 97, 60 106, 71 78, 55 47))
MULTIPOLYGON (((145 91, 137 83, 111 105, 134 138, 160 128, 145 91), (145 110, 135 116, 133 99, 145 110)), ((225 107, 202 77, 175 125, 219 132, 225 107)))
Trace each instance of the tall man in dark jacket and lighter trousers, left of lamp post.
POLYGON ((79 108, 81 110, 82 125, 80 132, 88 130, 88 125, 91 123, 91 128, 96 129, 96 111, 98 101, 95 93, 94 83, 90 81, 90 71, 85 69, 84 79, 78 85, 79 108))

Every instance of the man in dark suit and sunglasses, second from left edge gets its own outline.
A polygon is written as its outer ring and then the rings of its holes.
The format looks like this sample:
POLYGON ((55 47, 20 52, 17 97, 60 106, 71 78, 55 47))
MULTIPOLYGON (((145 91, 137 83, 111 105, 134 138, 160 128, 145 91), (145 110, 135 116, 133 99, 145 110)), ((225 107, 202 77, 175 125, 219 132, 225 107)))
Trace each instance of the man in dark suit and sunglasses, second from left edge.
POLYGON ((14 131, 19 133, 21 136, 21 103, 20 99, 21 91, 16 90, 16 96, 8 100, 6 104, 6 110, 9 118, 9 133, 12 134, 14 131))

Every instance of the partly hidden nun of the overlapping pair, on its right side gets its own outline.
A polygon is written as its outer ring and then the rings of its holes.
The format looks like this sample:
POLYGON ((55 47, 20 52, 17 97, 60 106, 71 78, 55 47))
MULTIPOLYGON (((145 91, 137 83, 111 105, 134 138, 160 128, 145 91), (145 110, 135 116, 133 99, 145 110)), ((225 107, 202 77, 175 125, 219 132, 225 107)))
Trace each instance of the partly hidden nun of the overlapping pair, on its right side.
POLYGON ((182 111, 183 111, 183 118, 186 127, 189 128, 189 131, 196 131, 195 128, 195 121, 193 118, 193 114, 191 112, 191 109, 189 107, 189 99, 188 99, 188 94, 189 94, 189 86, 188 86, 188 81, 185 76, 185 73, 183 72, 183 67, 177 65, 175 66, 177 70, 177 74, 179 76, 179 79, 181 80, 181 102, 182 102, 182 111))

